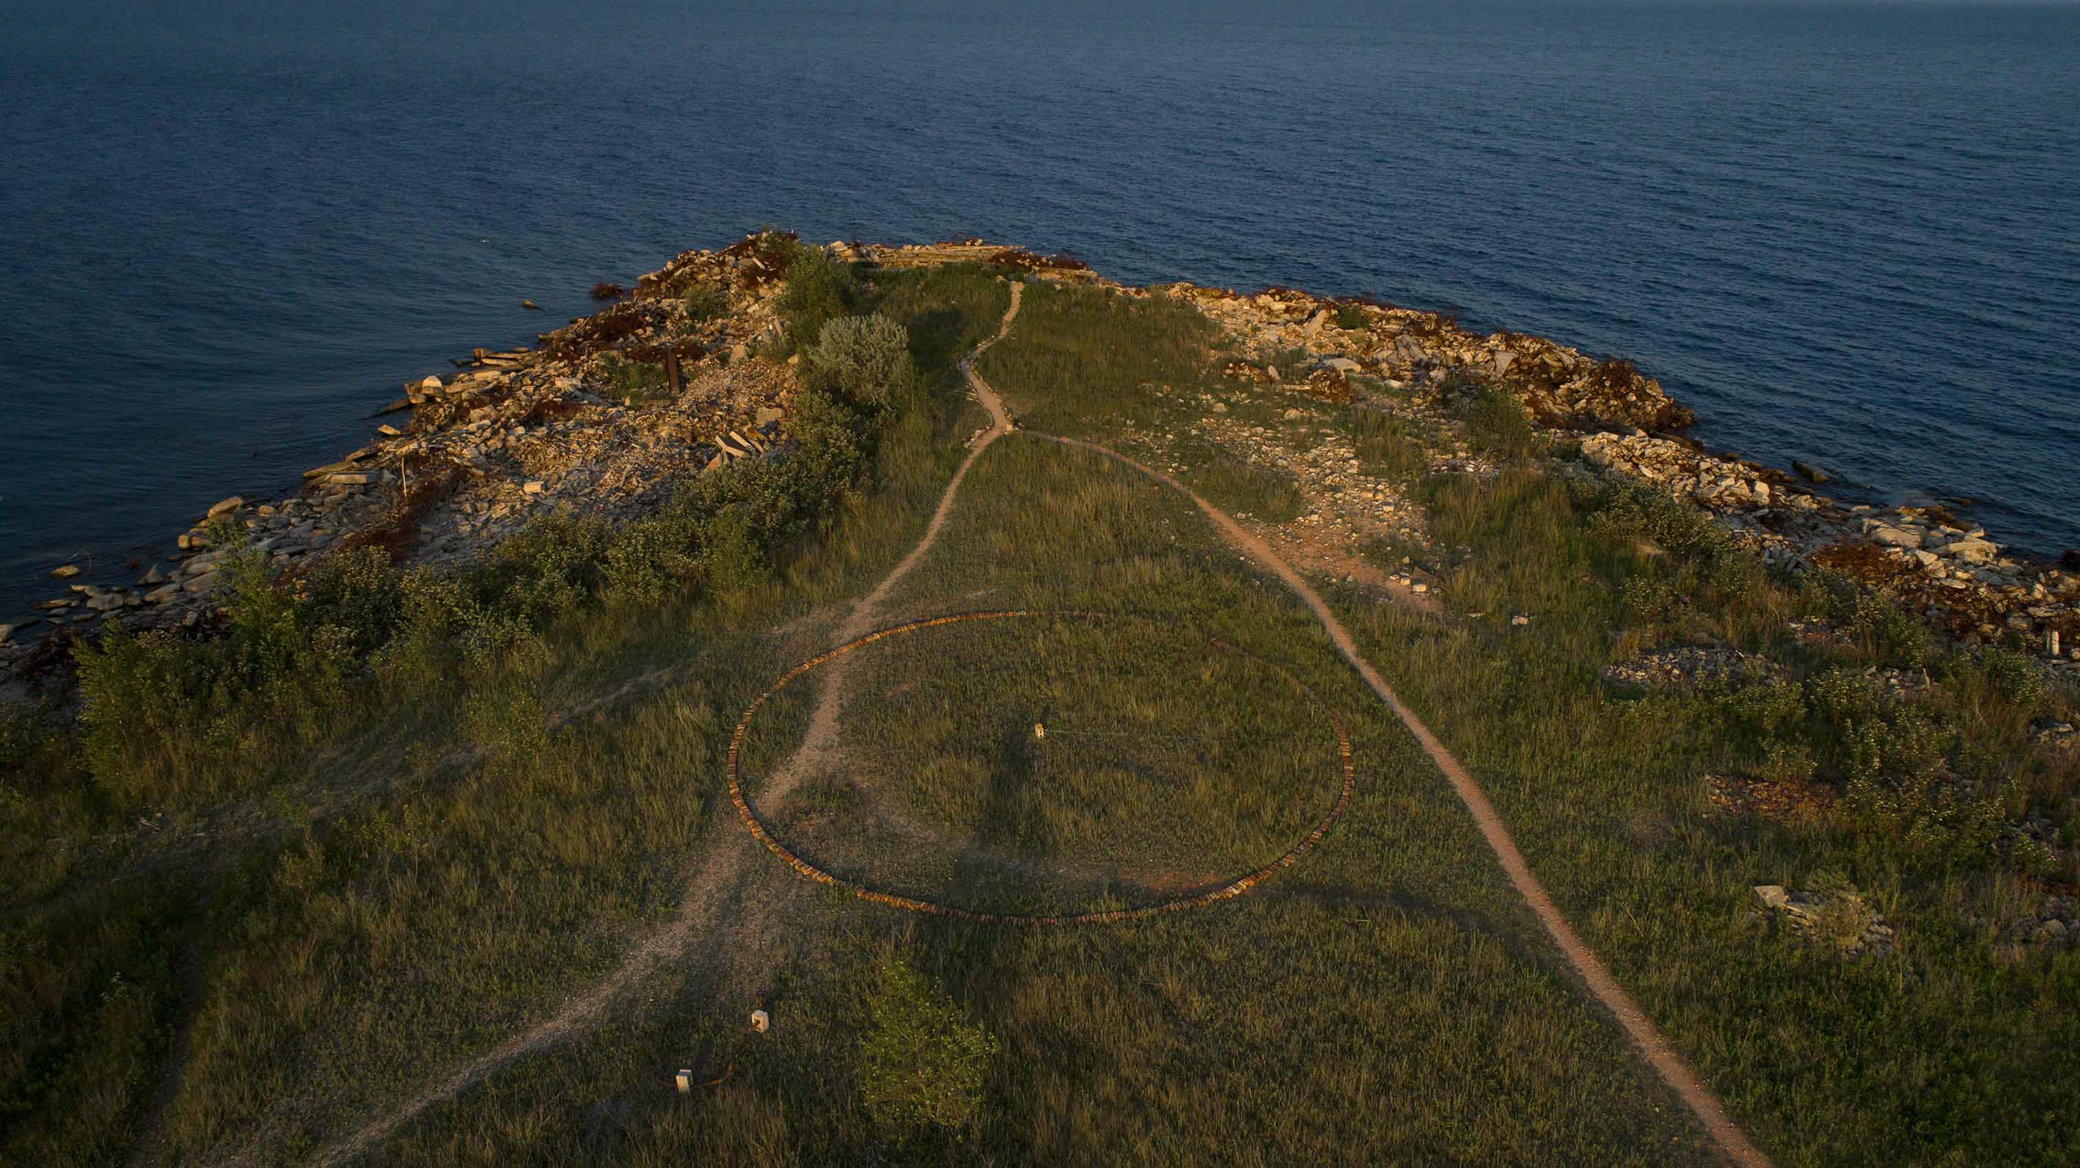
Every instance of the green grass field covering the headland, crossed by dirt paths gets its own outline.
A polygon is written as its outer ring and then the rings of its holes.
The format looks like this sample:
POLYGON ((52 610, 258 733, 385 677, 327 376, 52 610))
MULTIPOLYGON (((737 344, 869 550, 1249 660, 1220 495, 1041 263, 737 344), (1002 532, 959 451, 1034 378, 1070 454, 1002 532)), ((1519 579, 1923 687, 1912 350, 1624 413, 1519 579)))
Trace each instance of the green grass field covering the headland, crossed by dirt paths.
MULTIPOLYGON (((1102 455, 992 445, 882 623, 1111 617, 942 626, 849 655, 838 750, 759 813, 886 892, 996 912, 1148 904, 1312 829, 1340 790, 1333 711, 1356 788, 1323 842, 1238 900, 1007 927, 811 883, 745 831, 728 736, 917 542, 984 424, 953 364, 1007 295, 1005 272, 971 266, 863 281, 853 308, 907 326, 919 376, 859 478, 745 569, 645 601, 560 576, 560 607, 528 609, 497 653, 399 634, 297 698, 308 717, 239 705, 279 709, 279 688, 183 698, 223 702, 210 717, 233 729, 179 765, 133 750, 144 729, 15 715, 0 1160, 310 1162, 555 1016, 693 906, 684 944, 595 1014, 408 1108, 354 1145, 362 1162, 1716 1162, 1315 617, 1186 499, 1102 455), (763 1035, 745 1033, 753 1008, 763 1035), (720 1083, 680 1095, 680 1068, 720 1083)), ((978 370, 1021 424, 1179 466, 1267 522, 1290 517, 1290 482, 1211 459, 1184 395, 1159 389, 1221 391, 1265 424, 1298 405, 1408 484, 1450 553, 1444 607, 1319 586, 1778 1164, 2080 1160, 2080 956, 1999 941, 2040 902, 2036 877, 2074 873, 2020 871, 1982 838, 2080 790, 2072 761, 2026 740, 2072 694, 1930 655, 1882 605, 1770 578, 1487 414, 1502 470, 1431 476, 1431 430, 1223 382, 1217 345, 1190 308, 1030 283, 978 370), (1810 611, 1841 636, 1793 638, 1785 621, 1810 611), (1791 680, 1649 696, 1600 680, 1706 636, 1791 680), (1912 657, 1934 678, 1914 702, 1853 678, 1912 657), (1936 759, 1984 779, 1978 802, 1932 802, 1936 759), (1704 773, 1766 767, 1860 811, 1780 825, 1710 806, 1704 773), (1816 873, 1862 887, 1895 952, 1843 958, 1762 919, 1749 885, 1816 873)), ((699 532, 703 555, 736 547, 699 532)), ((528 596, 541 561, 514 561, 528 596)), ((828 675, 759 711, 753 800, 828 675)))

